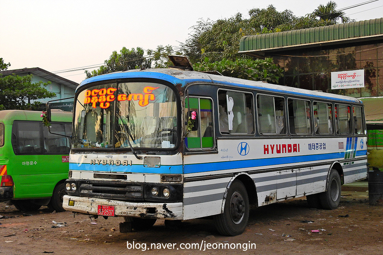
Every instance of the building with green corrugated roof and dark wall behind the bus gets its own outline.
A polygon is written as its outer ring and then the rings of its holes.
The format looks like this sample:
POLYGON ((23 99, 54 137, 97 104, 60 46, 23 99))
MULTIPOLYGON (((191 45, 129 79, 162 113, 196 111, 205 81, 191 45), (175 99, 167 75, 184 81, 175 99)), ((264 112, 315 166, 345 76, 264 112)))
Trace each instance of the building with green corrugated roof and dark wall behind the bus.
POLYGON ((272 57, 280 85, 354 97, 383 96, 383 18, 241 38, 239 53, 272 57), (365 70, 365 87, 331 90, 331 72, 365 70))

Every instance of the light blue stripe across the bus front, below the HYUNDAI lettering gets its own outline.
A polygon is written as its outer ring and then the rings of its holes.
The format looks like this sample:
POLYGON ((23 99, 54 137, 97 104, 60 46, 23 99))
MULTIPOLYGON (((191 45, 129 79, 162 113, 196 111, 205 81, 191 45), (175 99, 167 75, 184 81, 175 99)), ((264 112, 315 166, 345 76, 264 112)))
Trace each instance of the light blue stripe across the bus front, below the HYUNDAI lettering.
POLYGON ((69 163, 69 170, 121 172, 121 173, 178 173, 182 174, 182 165, 161 165, 160 167, 144 167, 143 165, 93 165, 89 163, 69 163), (113 170, 112 170, 113 168, 113 170))

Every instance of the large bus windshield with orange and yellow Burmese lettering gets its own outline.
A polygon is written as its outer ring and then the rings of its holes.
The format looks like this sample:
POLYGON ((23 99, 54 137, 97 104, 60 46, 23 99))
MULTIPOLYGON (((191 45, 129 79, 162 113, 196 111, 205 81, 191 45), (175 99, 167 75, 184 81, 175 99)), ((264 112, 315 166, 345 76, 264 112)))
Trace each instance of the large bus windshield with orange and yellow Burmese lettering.
POLYGON ((170 149, 177 142, 176 94, 159 83, 87 88, 77 96, 74 116, 73 148, 170 149))

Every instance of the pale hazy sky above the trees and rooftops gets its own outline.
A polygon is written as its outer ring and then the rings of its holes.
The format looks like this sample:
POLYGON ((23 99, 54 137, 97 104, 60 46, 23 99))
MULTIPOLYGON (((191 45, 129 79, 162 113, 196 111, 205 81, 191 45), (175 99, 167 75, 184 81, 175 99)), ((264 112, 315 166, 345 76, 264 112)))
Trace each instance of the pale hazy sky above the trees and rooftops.
MULTIPOLYGON (((383 0, 334 0, 356 21, 383 17, 383 0)), ((179 46, 197 21, 229 18, 274 5, 295 16, 329 0, 0 0, 0 57, 8 70, 40 67, 80 83, 84 70, 101 65, 122 47, 179 46)), ((88 69, 92 70, 92 69, 88 69)))

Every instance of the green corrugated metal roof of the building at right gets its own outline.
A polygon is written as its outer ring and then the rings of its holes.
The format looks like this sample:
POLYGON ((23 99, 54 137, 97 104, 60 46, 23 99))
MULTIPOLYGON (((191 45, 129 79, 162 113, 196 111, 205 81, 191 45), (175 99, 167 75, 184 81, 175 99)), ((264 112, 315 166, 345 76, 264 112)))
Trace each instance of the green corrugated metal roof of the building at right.
POLYGON ((243 36, 239 41, 239 53, 262 54, 265 51, 291 49, 305 46, 344 43, 345 40, 383 39, 383 18, 356 21, 317 28, 284 31, 270 34, 243 36))

